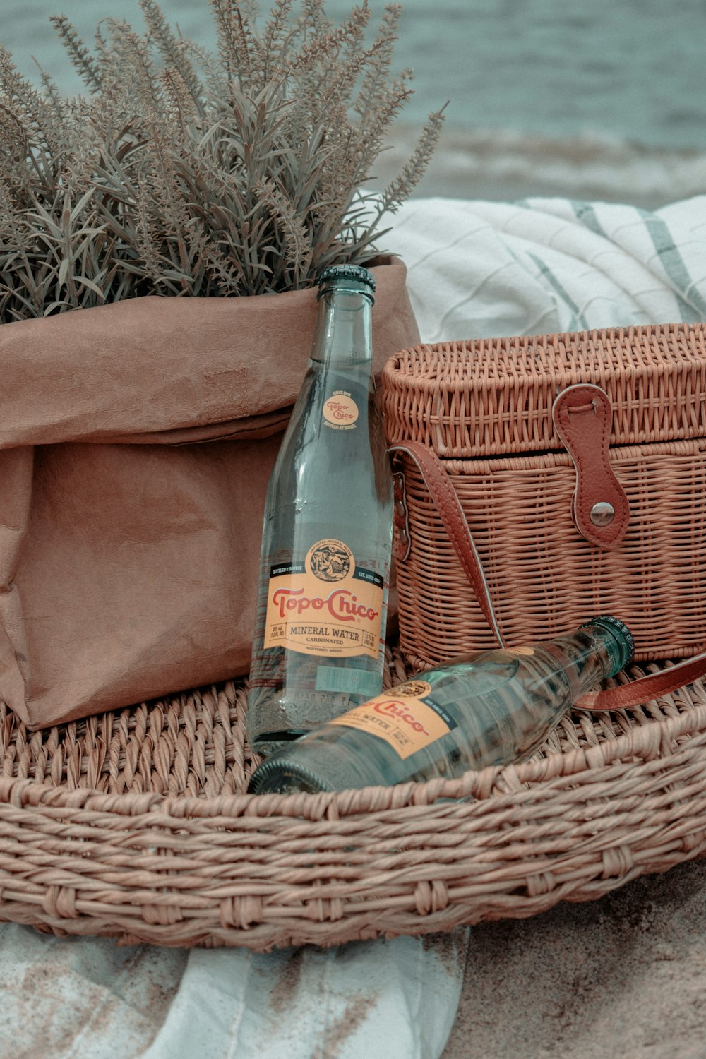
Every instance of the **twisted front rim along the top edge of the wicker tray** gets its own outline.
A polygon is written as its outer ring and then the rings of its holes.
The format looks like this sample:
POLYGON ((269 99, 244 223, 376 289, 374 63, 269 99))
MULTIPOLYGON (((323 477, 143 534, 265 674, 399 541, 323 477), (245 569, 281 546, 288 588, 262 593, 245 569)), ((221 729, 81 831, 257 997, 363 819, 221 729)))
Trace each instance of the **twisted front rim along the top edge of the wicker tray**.
MULTIPOLYGON (((678 693, 675 693, 678 695, 678 693)), ((624 713, 624 711, 616 711, 624 713)), ((668 762, 684 744, 669 747, 677 738, 689 742, 699 734, 706 736, 706 699, 691 703, 674 717, 650 720, 610 740, 590 747, 551 752, 543 758, 522 764, 491 766, 469 770, 455 779, 430 779, 424 783, 397 784, 391 787, 365 787, 357 790, 318 794, 224 794, 212 796, 169 795, 156 791, 123 794, 105 793, 95 788, 54 787, 25 777, 0 777, 0 806, 41 810, 83 810, 91 813, 115 813, 121 816, 145 816, 158 823, 160 815, 171 819, 231 818, 267 820, 297 816, 310 823, 341 818, 384 813, 400 809, 415 812, 438 809, 449 802, 470 809, 473 804, 491 803, 507 795, 517 798, 525 787, 551 789, 566 779, 578 779, 586 772, 621 765, 638 768, 646 762, 668 762), (623 761, 623 758, 630 760, 623 761), (442 800, 442 802, 440 801, 442 800), (472 800, 472 801, 469 801, 472 800)))

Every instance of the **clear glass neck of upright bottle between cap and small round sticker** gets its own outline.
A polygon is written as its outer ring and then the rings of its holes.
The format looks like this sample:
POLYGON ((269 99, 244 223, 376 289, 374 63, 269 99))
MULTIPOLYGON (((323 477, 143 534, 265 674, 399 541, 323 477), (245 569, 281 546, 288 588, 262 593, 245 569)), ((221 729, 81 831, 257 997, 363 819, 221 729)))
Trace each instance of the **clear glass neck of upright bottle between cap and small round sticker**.
POLYGON ((373 304, 359 290, 328 287, 319 301, 311 361, 333 367, 373 364, 373 304))

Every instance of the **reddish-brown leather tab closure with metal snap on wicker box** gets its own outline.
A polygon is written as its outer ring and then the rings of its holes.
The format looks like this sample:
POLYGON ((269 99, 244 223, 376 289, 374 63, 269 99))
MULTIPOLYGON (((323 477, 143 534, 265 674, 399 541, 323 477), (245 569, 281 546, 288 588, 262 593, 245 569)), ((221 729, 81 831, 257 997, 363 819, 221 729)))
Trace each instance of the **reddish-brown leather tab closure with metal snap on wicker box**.
POLYGON ((576 527, 592 544, 616 548, 628 528, 630 504, 611 467, 611 399, 590 382, 567 387, 555 400, 551 418, 576 468, 576 527))

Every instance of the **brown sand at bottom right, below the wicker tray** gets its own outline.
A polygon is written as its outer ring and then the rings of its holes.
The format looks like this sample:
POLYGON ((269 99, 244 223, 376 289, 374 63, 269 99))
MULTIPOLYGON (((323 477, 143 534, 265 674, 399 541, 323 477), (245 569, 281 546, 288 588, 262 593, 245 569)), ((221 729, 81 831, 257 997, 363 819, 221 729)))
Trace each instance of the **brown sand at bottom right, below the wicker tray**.
POLYGON ((471 929, 442 1059, 702 1059, 706 862, 471 929))

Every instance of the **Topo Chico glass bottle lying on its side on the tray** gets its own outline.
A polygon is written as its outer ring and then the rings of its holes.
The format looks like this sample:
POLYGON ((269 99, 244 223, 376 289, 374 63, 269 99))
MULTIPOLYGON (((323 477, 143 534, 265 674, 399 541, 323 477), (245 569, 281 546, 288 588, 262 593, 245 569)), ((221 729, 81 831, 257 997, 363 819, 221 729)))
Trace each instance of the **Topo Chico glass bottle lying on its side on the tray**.
POLYGON ((452 779, 529 757, 584 692, 633 654, 628 628, 595 617, 568 635, 470 654, 421 672, 282 750, 253 793, 452 779))

